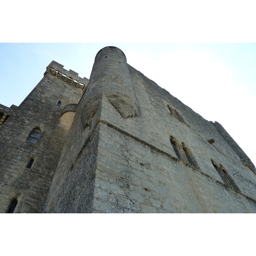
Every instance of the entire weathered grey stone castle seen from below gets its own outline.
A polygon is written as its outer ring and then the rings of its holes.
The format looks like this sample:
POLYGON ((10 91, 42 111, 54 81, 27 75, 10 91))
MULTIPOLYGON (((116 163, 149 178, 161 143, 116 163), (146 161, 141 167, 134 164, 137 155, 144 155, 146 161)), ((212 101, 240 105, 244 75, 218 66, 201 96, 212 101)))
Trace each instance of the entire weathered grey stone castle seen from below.
POLYGON ((52 61, 0 105, 1 213, 253 213, 256 168, 209 122, 101 49, 90 79, 52 61))

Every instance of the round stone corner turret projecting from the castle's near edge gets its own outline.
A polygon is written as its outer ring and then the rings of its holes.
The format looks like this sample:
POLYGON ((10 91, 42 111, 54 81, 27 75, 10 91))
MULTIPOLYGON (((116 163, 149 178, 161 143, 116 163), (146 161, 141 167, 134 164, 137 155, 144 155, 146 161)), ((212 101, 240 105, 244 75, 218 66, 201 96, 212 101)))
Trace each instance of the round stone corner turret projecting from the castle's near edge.
POLYGON ((139 115, 125 54, 112 46, 101 49, 96 55, 84 99, 84 126, 90 125, 102 96, 123 118, 139 115))

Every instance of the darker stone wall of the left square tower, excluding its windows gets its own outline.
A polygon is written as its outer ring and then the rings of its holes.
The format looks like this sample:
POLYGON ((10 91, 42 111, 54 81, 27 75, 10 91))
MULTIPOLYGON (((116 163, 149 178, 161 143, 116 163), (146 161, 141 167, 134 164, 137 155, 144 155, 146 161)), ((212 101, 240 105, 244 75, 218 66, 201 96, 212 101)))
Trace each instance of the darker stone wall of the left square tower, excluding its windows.
MULTIPOLYGON (((52 183, 67 129, 61 124, 65 105, 77 104, 83 90, 58 79, 64 71, 55 61, 47 67, 43 79, 20 106, 0 108, 9 115, 0 126, 0 212, 4 213, 17 198, 15 212, 42 212, 52 183), (52 68, 52 69, 51 69, 52 68), (57 103, 61 101, 61 105, 57 103), (37 143, 28 141, 34 128, 41 130, 37 143), (28 168, 29 161, 32 166, 28 168)), ((76 73, 65 70, 73 79, 76 73)), ((70 79, 69 79, 70 80, 70 79)), ((84 86, 87 79, 81 79, 84 86)))

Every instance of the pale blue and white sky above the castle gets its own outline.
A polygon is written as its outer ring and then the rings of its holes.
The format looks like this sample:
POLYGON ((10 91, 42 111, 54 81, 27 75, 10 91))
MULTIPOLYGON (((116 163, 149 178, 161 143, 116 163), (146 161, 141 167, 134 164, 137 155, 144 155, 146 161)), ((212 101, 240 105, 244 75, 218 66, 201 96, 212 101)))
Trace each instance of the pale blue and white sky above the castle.
POLYGON ((256 163, 256 44, 0 44, 0 103, 19 105, 55 60, 90 78, 96 53, 122 49, 127 62, 205 119, 217 121, 256 163))

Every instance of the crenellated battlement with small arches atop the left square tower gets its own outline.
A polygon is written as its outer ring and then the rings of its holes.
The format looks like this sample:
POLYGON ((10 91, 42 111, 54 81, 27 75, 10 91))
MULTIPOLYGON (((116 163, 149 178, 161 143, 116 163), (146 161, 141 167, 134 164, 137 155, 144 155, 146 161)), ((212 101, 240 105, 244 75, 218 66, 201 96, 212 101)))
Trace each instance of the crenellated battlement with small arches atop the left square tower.
POLYGON ((64 66, 59 64, 58 62, 52 61, 49 64, 49 66, 46 67, 44 76, 47 73, 50 73, 52 76, 56 76, 58 79, 61 79, 70 85, 73 85, 82 90, 85 90, 89 79, 87 79, 85 77, 81 78, 78 76, 78 73, 76 73, 75 71, 73 71, 73 70, 68 71, 68 70, 65 70, 63 67, 64 66))

